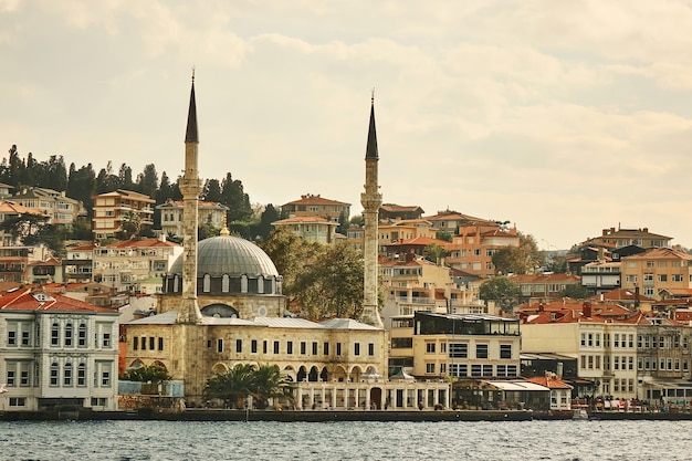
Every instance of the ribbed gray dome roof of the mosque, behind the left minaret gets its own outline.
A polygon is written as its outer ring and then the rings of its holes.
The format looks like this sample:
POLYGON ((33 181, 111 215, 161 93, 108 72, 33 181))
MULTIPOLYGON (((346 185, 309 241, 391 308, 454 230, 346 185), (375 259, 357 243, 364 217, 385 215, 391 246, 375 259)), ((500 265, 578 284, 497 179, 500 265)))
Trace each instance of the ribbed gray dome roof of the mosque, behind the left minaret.
MULTIPOLYGON (((182 274, 182 254, 170 268, 182 274)), ((269 255, 254 243, 231 235, 205 239, 197 244, 197 276, 209 275, 279 275, 269 255)))

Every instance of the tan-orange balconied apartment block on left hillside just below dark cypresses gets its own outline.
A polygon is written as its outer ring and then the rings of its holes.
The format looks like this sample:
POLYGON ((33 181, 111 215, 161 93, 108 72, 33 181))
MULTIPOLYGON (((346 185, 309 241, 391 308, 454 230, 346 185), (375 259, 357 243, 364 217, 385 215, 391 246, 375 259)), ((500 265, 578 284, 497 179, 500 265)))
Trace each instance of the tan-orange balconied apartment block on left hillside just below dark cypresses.
POLYGON ((117 237, 123 230, 123 222, 134 220, 138 226, 146 227, 154 223, 155 200, 144 193, 118 189, 113 192, 93 197, 94 218, 92 232, 94 240, 117 237))

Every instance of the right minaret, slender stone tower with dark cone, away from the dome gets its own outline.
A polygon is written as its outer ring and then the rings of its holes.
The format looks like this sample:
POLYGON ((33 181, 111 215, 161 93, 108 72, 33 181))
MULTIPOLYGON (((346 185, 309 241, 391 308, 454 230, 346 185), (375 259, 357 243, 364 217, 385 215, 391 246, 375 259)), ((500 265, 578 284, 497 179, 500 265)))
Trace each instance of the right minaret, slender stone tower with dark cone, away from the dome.
POLYGON ((382 205, 382 195, 377 184, 377 134, 375 132, 375 92, 370 99, 370 127, 368 128, 368 144, 365 150, 365 192, 360 195, 363 217, 365 218, 365 290, 363 301, 363 322, 382 328, 377 307, 377 224, 379 207, 382 205))

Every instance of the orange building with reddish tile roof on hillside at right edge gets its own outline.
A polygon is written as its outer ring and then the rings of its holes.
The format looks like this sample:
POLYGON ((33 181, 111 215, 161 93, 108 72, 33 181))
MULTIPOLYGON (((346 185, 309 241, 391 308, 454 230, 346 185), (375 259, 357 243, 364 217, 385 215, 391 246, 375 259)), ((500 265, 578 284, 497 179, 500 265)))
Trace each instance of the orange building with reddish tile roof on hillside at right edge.
POLYGON ((622 258, 622 287, 639 287, 644 296, 660 300, 665 289, 692 289, 692 255, 670 248, 652 248, 622 258))

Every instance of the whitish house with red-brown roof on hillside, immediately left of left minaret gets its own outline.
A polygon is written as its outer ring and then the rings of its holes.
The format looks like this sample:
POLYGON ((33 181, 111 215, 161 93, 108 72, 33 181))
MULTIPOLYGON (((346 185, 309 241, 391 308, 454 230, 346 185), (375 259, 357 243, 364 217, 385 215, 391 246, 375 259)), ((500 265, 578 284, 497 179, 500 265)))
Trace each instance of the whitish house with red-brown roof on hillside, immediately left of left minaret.
POLYGON ((139 282, 160 277, 182 253, 178 243, 159 239, 125 240, 93 249, 93 280, 116 291, 139 291, 139 282))

